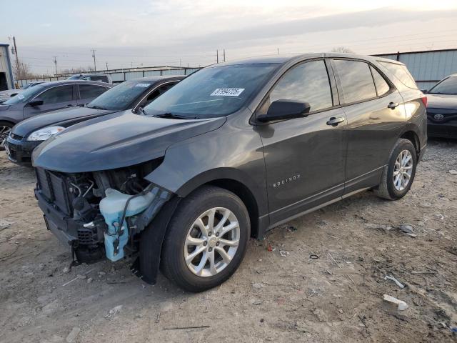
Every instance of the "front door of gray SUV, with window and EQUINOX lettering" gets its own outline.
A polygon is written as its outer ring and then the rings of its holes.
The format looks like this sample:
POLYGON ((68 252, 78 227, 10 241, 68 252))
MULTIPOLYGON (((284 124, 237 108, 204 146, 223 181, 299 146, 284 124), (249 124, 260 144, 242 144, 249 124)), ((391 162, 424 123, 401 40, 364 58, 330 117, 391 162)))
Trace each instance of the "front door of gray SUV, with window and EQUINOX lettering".
POLYGON ((278 99, 311 105, 306 118, 257 127, 265 156, 271 225, 343 194, 346 117, 333 106, 328 75, 322 59, 291 67, 256 113, 266 114, 269 104, 278 99), (331 119, 340 122, 332 125, 331 119))

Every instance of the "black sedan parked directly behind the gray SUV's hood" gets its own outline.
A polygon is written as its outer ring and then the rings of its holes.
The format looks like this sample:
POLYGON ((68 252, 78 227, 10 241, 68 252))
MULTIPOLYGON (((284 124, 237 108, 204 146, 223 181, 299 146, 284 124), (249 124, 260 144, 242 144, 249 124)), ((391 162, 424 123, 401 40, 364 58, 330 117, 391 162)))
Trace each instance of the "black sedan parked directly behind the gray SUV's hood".
POLYGON ((6 154, 15 164, 30 166, 31 152, 50 136, 67 127, 115 112, 132 109, 134 113, 149 104, 184 76, 151 76, 124 81, 84 107, 53 111, 16 124, 6 139, 6 154))

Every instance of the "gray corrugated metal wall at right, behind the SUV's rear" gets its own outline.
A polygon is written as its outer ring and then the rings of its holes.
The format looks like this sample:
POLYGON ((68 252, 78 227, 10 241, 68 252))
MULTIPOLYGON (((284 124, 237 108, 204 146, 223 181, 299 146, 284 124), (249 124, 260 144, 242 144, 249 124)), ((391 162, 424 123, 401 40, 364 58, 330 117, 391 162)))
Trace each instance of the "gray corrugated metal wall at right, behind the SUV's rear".
POLYGON ((406 64, 420 89, 430 89, 444 77, 457 73, 457 49, 397 52, 375 56, 406 64))

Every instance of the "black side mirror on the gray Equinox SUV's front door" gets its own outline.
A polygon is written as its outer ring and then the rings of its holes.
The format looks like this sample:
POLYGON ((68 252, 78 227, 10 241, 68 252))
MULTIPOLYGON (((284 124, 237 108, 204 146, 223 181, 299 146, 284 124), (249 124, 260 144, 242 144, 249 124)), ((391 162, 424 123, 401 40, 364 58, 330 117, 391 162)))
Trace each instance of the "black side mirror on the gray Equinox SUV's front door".
POLYGON ((311 106, 308 102, 293 100, 276 100, 268 107, 266 114, 258 116, 257 120, 262 123, 275 120, 304 118, 308 116, 311 106))

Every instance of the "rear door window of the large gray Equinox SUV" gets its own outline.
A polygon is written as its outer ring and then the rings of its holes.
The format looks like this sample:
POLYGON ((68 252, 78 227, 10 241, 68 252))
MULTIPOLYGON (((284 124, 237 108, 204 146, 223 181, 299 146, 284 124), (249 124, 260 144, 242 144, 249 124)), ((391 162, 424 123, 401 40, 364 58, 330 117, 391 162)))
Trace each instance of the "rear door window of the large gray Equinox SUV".
POLYGON ((333 61, 343 88, 344 104, 376 98, 373 77, 367 63, 344 59, 333 61))

